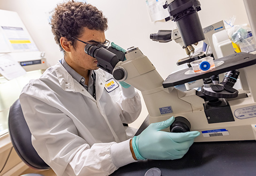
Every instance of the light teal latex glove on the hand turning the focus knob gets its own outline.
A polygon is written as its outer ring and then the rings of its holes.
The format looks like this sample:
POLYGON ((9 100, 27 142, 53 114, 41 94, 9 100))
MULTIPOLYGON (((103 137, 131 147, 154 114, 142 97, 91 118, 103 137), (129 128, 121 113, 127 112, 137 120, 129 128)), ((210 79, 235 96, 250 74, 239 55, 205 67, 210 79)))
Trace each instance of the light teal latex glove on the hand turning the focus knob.
POLYGON ((199 131, 171 133, 161 131, 170 127, 175 118, 151 123, 139 136, 132 138, 132 148, 138 160, 175 160, 182 158, 194 143, 199 131))

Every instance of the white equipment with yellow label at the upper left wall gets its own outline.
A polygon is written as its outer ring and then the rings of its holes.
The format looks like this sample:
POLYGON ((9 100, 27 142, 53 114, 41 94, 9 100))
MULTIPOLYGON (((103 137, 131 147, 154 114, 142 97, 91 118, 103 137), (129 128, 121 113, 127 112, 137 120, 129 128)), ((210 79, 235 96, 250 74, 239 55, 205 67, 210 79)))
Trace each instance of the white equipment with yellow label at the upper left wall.
POLYGON ((8 10, 0 10, 0 15, 8 16, 0 19, 0 56, 8 56, 25 71, 47 69, 45 52, 39 51, 19 15, 8 10))

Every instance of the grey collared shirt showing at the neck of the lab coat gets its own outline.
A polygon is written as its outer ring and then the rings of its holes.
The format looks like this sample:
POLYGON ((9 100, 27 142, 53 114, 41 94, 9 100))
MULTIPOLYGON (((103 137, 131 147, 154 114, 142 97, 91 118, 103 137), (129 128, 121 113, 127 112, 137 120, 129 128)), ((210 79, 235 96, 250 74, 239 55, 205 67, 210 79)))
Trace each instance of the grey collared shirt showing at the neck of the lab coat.
POLYGON ((93 70, 90 70, 90 77, 88 86, 85 84, 85 77, 82 77, 78 72, 76 72, 74 69, 72 69, 69 64, 65 61, 64 58, 62 58, 61 63, 63 67, 69 72, 69 74, 77 80, 78 83, 80 83, 86 91, 88 91, 92 96, 94 95, 94 88, 93 88, 93 70))

